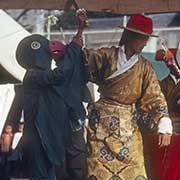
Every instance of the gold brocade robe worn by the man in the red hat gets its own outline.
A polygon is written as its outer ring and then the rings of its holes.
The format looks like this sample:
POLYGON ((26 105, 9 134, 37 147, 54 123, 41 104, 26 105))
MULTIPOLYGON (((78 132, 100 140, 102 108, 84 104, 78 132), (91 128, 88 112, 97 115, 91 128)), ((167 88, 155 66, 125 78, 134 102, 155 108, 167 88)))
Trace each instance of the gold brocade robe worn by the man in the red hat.
POLYGON ((137 119, 153 128, 167 116, 155 72, 143 57, 125 73, 107 80, 117 70, 117 57, 116 47, 87 50, 90 78, 101 94, 95 103, 100 120, 88 127, 88 180, 147 179, 137 119))

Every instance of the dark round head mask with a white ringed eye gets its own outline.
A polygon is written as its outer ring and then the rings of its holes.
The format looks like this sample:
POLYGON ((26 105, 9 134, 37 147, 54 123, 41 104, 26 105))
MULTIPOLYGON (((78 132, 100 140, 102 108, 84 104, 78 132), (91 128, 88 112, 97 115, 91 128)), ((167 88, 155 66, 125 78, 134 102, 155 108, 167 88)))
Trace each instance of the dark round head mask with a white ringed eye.
POLYGON ((25 69, 50 69, 52 58, 49 40, 39 34, 25 37, 17 46, 16 59, 25 69))

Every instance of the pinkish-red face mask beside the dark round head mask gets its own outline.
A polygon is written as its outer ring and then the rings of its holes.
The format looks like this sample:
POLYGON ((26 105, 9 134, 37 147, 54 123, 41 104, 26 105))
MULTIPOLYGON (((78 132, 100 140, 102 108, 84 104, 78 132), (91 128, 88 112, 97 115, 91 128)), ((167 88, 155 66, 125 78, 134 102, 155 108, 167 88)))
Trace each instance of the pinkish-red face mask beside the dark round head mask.
POLYGON ((67 46, 61 41, 51 41, 49 46, 54 59, 61 58, 66 54, 67 46))

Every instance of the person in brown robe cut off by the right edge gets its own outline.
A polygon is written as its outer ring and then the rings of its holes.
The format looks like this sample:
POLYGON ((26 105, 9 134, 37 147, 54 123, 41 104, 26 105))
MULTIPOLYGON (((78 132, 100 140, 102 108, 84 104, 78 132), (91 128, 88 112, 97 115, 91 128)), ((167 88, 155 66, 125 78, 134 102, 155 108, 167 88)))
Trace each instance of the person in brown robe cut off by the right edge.
POLYGON ((177 48, 170 48, 167 51, 158 50, 156 60, 164 61, 170 71, 168 76, 160 81, 160 85, 167 100, 169 115, 173 122, 173 131, 180 133, 180 50, 177 48))

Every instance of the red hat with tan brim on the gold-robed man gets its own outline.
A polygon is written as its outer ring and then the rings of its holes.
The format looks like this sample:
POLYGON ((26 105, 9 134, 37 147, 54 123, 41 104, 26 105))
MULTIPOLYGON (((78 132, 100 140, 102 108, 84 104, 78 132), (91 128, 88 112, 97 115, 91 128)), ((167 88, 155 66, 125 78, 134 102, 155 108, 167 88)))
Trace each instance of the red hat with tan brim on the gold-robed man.
POLYGON ((152 34, 153 32, 152 19, 149 17, 145 17, 143 15, 132 15, 127 23, 127 26, 126 27, 120 26, 120 27, 142 35, 158 37, 152 34))

